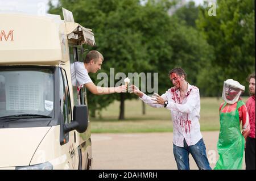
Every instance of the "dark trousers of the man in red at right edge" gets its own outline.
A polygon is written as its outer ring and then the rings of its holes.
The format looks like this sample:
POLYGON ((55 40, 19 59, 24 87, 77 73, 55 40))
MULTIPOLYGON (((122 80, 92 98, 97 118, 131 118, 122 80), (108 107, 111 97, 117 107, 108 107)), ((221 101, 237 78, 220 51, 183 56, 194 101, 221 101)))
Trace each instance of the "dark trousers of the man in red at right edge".
POLYGON ((246 170, 255 170, 255 138, 247 137, 245 148, 246 170))

